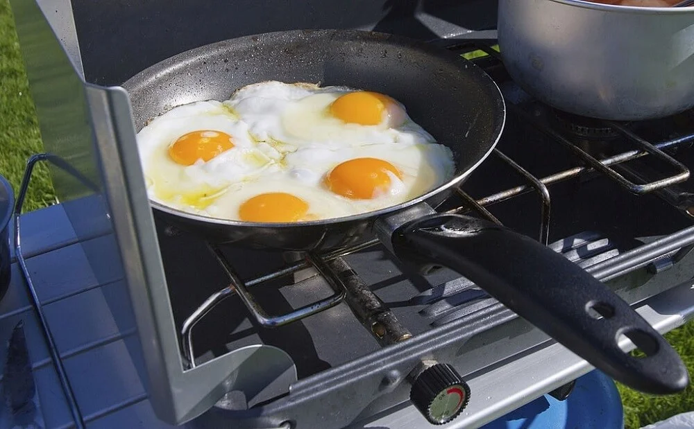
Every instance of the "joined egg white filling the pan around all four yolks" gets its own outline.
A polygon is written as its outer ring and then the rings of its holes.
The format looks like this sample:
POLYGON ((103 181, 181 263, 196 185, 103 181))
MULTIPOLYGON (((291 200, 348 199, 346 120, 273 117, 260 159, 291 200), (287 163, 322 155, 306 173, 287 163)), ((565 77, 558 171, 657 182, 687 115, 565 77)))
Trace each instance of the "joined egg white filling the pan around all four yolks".
POLYGON ((223 103, 191 103, 153 119, 137 134, 149 197, 182 211, 239 220, 239 207, 250 198, 286 192, 309 204, 303 220, 332 219, 412 200, 452 178, 450 149, 435 143, 399 103, 395 107, 401 110, 389 111, 379 125, 348 124, 327 115, 330 103, 347 91, 262 82, 223 103), (169 145, 196 130, 226 132, 235 146, 207 162, 176 164, 169 145), (360 157, 389 161, 402 177, 389 174, 389 189, 369 200, 332 193, 325 175, 360 157))

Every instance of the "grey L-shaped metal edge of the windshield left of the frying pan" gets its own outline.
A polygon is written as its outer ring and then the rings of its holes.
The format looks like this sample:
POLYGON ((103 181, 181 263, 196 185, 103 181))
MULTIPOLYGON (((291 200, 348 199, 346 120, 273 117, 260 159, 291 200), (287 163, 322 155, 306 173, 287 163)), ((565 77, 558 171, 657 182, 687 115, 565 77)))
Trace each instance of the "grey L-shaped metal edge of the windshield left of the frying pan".
POLYGON ((236 383, 246 382, 239 374, 248 372, 249 362, 272 362, 276 352, 261 346, 245 347, 183 370, 158 239, 134 146, 128 95, 119 87, 87 84, 87 89, 92 110, 105 119, 96 124, 96 146, 100 159, 108 160, 102 164, 102 171, 112 221, 119 231, 116 238, 145 358, 146 371, 141 377, 147 380, 152 405, 160 419, 180 424, 194 419, 219 400, 223 380, 224 389, 234 389, 236 383))

